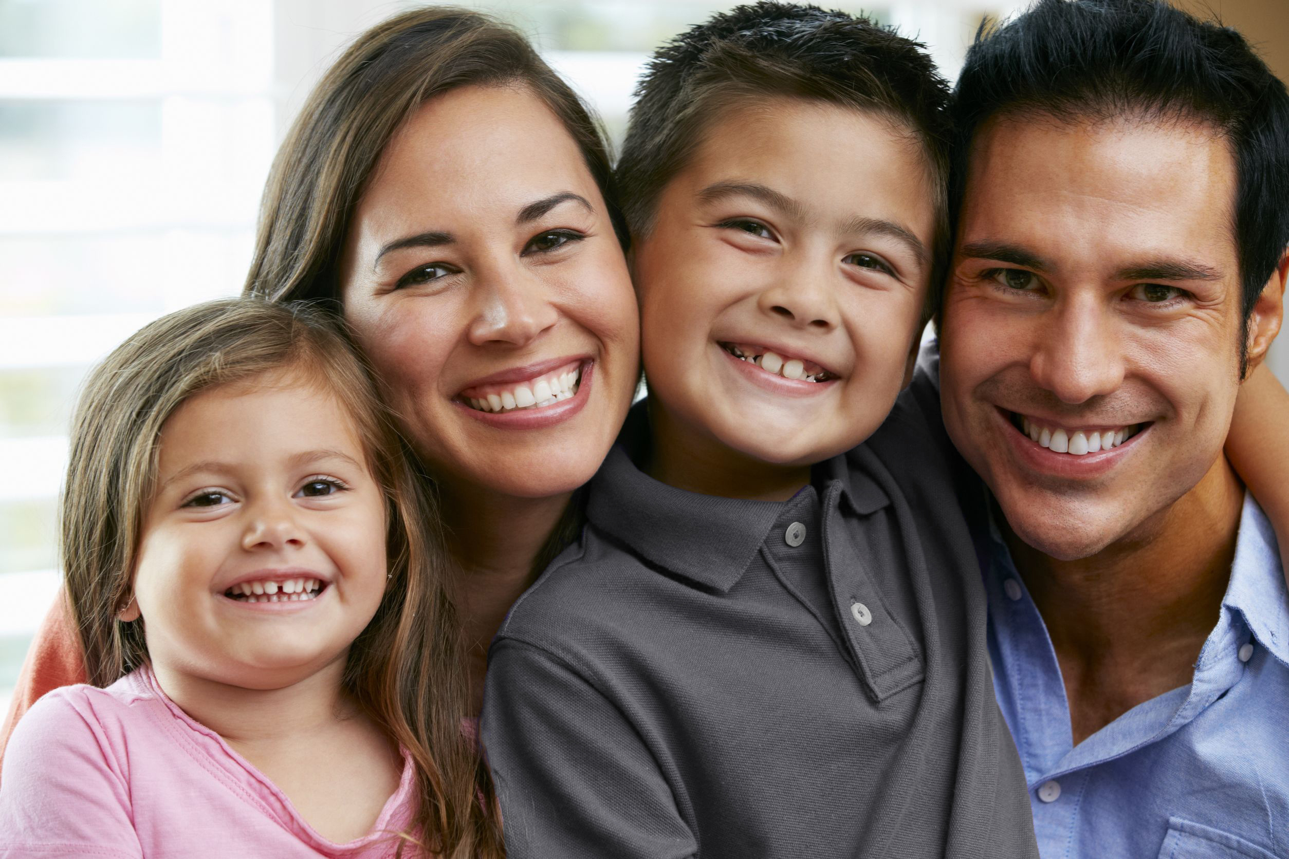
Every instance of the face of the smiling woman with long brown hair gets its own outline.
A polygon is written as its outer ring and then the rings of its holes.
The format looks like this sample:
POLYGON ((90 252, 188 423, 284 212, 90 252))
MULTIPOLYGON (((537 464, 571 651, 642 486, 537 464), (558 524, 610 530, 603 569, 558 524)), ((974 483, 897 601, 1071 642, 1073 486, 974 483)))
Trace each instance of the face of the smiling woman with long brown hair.
POLYGON ((528 90, 460 88, 412 115, 358 201, 340 285, 450 488, 545 497, 596 473, 635 385, 635 299, 596 180, 528 90))

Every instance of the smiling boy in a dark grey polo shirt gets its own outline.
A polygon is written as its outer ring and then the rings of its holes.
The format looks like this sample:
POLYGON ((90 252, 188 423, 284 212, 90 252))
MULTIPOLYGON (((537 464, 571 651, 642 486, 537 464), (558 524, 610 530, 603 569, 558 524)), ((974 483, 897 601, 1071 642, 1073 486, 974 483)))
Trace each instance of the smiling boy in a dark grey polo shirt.
POLYGON ((647 415, 492 644, 510 856, 1038 855, 949 466, 891 413, 945 98, 918 45, 813 6, 654 59, 619 166, 647 415))

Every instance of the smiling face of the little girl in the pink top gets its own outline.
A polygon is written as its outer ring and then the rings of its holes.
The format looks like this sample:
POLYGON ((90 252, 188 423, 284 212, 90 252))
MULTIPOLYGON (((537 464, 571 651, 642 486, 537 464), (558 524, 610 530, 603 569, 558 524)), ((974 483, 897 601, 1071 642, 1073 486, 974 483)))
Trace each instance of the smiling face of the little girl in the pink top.
POLYGON ((343 661, 385 586, 385 511, 335 397, 273 373, 165 422, 134 569, 161 672, 276 689, 343 661))

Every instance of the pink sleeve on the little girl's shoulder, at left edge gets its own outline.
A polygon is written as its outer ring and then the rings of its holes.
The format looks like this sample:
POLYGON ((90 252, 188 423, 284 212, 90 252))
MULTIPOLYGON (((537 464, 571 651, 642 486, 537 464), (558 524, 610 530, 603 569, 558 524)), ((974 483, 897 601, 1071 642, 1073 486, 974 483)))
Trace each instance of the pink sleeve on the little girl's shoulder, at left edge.
POLYGON ((3 774, 0 858, 143 855, 128 777, 84 686, 31 708, 13 732, 3 774))

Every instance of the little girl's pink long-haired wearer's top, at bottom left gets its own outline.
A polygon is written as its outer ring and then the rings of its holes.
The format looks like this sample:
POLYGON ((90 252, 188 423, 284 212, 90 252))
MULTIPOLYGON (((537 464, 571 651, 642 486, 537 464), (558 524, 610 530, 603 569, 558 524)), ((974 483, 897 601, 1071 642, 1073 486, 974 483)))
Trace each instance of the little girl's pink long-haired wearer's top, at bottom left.
POLYGON ((405 752, 371 832, 327 841, 141 668, 107 689, 55 689, 18 722, 0 778, 0 858, 392 856, 414 787, 405 752))

